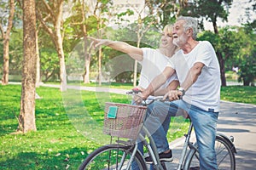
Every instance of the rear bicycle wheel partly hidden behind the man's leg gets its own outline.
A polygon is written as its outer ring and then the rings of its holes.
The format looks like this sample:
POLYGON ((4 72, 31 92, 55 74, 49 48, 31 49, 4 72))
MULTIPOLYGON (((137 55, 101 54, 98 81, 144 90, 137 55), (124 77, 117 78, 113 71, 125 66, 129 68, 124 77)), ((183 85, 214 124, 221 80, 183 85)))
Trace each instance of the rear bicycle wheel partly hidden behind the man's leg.
MULTIPOLYGON (((197 148, 197 144, 194 144, 197 148)), ((221 136, 216 136, 215 139, 215 151, 218 163, 218 170, 235 170, 236 169, 236 159, 233 148, 226 139, 221 136)), ((184 170, 188 169, 200 169, 199 168, 199 154, 196 149, 189 150, 188 156, 186 157, 184 163, 184 170)))

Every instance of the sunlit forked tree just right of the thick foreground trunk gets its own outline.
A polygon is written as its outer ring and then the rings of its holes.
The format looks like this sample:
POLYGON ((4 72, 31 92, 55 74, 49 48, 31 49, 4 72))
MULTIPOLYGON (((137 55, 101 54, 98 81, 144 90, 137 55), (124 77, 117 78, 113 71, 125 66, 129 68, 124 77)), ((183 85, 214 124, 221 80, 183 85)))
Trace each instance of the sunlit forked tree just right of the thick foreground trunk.
POLYGON ((37 3, 37 17, 40 20, 44 31, 49 34, 51 40, 54 42, 55 49, 59 57, 61 91, 65 91, 67 89, 63 35, 61 34, 61 30, 63 28, 63 3, 64 0, 54 0, 49 2, 46 2, 46 0, 40 0, 37 3))

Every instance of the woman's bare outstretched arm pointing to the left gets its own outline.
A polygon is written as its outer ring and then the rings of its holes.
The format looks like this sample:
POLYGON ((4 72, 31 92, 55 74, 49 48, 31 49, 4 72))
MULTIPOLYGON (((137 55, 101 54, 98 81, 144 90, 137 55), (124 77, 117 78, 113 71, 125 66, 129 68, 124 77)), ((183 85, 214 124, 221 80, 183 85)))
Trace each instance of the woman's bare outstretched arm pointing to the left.
POLYGON ((105 45, 115 50, 121 51, 125 54, 129 54, 131 58, 136 59, 138 61, 143 60, 142 48, 131 46, 129 43, 126 43, 126 42, 112 41, 108 39, 96 39, 94 37, 88 37, 88 38, 93 41, 95 47, 105 45))

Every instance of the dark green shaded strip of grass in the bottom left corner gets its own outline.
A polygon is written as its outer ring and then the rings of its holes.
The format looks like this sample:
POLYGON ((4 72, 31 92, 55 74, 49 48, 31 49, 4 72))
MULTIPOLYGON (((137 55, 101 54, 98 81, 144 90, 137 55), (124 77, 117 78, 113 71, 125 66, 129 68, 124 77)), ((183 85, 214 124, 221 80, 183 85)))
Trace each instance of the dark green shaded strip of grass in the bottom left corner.
POLYGON ((20 152, 17 156, 0 161, 1 169, 78 169, 88 156, 85 148, 72 148, 58 153, 20 152))

